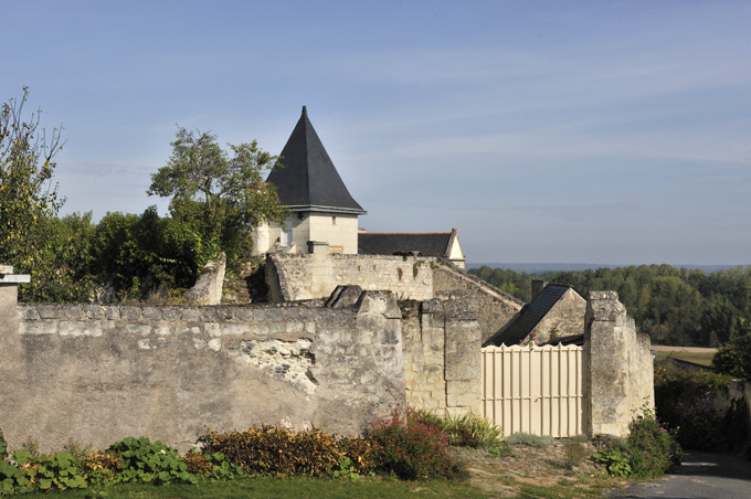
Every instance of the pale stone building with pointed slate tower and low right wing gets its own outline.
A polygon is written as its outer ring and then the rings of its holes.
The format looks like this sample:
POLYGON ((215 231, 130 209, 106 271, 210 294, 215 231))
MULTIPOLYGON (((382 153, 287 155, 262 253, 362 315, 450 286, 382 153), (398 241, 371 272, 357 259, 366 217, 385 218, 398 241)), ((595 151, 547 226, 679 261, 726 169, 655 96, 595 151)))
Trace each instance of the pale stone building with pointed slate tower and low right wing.
POLYGON ((254 253, 436 256, 464 268, 456 229, 444 233, 368 234, 358 227, 367 211, 355 201, 318 138, 307 109, 300 116, 266 181, 290 212, 284 225, 253 232, 254 253))

